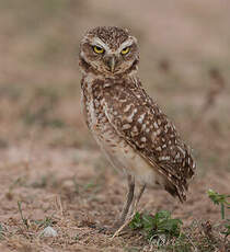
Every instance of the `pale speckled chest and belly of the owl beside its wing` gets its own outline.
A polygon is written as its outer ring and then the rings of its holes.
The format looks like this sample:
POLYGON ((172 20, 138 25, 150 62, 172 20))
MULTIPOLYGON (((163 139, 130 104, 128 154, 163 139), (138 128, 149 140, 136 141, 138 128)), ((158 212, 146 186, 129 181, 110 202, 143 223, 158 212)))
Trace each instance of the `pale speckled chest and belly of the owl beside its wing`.
MULTIPOLYGON (((125 169, 134 173, 142 173, 145 167, 147 168, 148 164, 126 140, 118 135, 108 121, 103 104, 103 92, 100 90, 100 87, 93 87, 92 83, 88 83, 87 81, 82 83, 82 85, 84 118, 101 149, 115 168, 125 169), (142 168, 143 170, 138 171, 138 168, 142 168)), ((146 173, 142 175, 148 177, 148 180, 152 180, 152 174, 149 174, 149 172, 147 175, 146 173)))

